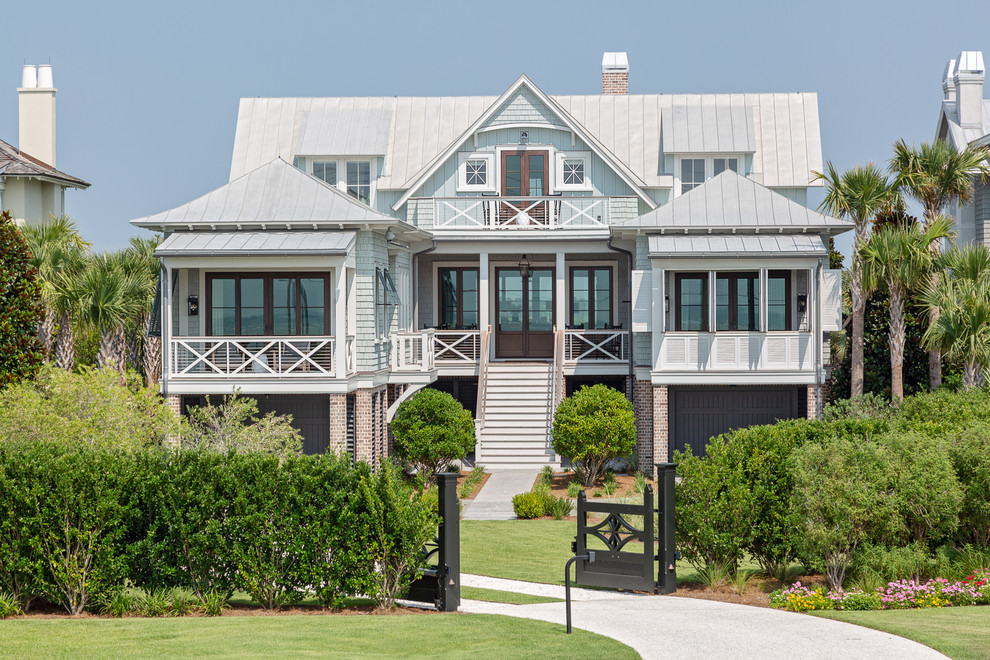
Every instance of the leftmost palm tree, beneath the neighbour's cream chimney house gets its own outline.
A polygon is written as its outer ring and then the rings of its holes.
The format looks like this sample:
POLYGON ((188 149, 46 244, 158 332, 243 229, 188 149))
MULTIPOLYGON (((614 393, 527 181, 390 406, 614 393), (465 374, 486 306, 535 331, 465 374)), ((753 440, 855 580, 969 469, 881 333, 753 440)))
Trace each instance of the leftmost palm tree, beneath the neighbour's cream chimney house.
POLYGON ((63 289, 59 280, 66 270, 78 267, 90 243, 82 238, 76 223, 66 215, 53 215, 40 224, 25 225, 21 233, 28 242, 32 265, 38 269, 41 279, 45 316, 38 326, 38 339, 41 340, 45 362, 48 362, 56 341, 56 328, 60 334, 64 332, 67 337, 72 336, 71 317, 61 313, 67 308, 67 301, 60 300, 63 289))

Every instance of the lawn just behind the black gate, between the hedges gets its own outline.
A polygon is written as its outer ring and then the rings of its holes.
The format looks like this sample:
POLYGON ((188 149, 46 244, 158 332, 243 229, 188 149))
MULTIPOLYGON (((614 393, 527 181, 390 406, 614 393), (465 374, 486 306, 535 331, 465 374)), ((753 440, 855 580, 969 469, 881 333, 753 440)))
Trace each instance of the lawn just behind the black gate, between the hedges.
MULTIPOLYGON (((564 583, 577 523, 567 520, 462 520, 461 570, 475 575, 564 583)), ((642 544, 630 543, 630 551, 642 544)), ((746 566, 747 568, 749 566, 746 566)), ((571 575, 573 576, 573 569, 571 575)), ((685 561, 677 563, 678 582, 698 582, 685 561)))

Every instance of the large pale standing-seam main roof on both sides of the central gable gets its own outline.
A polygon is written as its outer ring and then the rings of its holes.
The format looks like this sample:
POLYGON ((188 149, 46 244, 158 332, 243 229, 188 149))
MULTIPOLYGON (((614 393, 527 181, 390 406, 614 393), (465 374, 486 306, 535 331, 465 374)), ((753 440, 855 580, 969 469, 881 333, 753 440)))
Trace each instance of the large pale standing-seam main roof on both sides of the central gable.
MULTIPOLYGON (((230 180, 273 158, 385 154, 378 187, 400 190, 499 98, 241 99, 230 180)), ((814 93, 549 98, 648 187, 670 185, 664 152, 713 151, 752 153, 752 171, 767 186, 820 185, 811 174, 823 167, 814 93)))

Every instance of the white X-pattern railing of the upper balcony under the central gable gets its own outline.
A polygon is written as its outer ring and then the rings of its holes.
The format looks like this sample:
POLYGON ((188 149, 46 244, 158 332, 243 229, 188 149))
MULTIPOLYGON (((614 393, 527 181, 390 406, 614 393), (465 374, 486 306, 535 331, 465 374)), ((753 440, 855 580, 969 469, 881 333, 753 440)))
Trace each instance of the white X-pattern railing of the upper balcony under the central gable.
POLYGON ((608 197, 434 197, 433 229, 595 229, 608 197))

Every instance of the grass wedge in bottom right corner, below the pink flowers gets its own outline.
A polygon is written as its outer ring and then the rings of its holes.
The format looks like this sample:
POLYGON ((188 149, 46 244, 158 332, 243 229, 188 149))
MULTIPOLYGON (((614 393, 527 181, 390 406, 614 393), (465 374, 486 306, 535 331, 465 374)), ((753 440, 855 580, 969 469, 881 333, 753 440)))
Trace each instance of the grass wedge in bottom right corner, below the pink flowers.
POLYGON ((944 607, 876 612, 815 612, 930 646, 956 660, 990 658, 990 607, 944 607))

